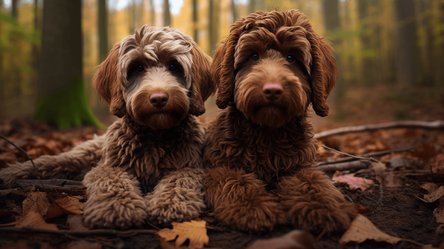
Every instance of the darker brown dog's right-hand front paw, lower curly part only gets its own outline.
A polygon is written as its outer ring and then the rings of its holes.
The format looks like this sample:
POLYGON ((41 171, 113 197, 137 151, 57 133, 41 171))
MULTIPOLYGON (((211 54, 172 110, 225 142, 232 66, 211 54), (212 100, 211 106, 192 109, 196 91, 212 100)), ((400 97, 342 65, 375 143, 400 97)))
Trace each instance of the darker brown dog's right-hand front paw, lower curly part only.
POLYGON ((290 223, 295 228, 306 231, 345 231, 357 216, 353 204, 329 197, 322 200, 293 197, 282 201, 282 204, 287 207, 286 217, 290 223))

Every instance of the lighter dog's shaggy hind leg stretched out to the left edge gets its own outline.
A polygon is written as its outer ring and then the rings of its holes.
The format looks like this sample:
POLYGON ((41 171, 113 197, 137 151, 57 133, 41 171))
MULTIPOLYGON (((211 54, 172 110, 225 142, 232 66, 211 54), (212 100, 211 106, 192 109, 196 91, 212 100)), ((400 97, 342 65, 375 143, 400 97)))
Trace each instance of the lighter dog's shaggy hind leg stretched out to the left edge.
MULTIPOLYGON (((81 181, 84 174, 100 160, 103 140, 104 135, 95 136, 94 139, 85 141, 67 152, 37 158, 34 164, 40 177, 81 181)), ((4 181, 4 185, 12 185, 18 179, 36 179, 37 175, 31 161, 26 161, 8 164, 0 170, 0 178, 4 181)))

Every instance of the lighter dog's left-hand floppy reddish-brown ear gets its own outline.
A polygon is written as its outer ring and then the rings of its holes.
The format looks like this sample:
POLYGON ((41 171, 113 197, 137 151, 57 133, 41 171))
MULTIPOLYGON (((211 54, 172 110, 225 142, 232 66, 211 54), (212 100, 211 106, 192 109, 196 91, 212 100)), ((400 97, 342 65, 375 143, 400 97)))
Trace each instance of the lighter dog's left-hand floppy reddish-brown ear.
POLYGON ((119 59, 120 43, 116 43, 108 54, 106 60, 95 72, 92 86, 100 98, 110 105, 112 115, 123 117, 125 115, 125 101, 121 89, 121 82, 117 73, 117 60, 119 59))

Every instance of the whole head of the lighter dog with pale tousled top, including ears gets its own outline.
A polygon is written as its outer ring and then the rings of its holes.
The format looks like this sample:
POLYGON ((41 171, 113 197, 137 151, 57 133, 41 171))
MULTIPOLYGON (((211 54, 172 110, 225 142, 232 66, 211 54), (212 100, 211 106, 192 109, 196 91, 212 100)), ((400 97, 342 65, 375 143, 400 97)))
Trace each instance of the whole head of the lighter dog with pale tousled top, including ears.
POLYGON ((111 114, 129 114, 154 130, 176 126, 188 113, 201 115, 215 90, 210 59, 190 36, 148 25, 114 45, 93 86, 111 114))

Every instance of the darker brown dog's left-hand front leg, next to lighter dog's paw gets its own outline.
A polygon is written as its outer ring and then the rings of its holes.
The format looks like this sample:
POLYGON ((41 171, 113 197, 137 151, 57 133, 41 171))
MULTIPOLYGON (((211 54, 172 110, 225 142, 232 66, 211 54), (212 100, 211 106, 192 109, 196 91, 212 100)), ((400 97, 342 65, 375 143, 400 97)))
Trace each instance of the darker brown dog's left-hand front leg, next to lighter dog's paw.
POLYGON ((218 167, 208 171, 204 185, 214 216, 232 229, 257 232, 286 223, 282 205, 252 173, 218 167))

